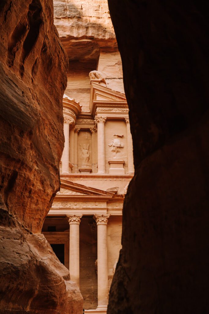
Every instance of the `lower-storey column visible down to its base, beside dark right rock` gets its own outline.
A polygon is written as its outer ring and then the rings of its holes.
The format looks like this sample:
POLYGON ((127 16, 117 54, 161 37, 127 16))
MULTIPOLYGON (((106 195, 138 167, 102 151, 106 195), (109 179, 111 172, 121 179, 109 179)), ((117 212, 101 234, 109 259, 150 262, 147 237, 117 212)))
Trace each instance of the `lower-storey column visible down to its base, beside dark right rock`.
POLYGON ((97 222, 97 280, 98 310, 106 310, 108 304, 108 269, 107 269, 107 220, 110 215, 95 214, 97 222))

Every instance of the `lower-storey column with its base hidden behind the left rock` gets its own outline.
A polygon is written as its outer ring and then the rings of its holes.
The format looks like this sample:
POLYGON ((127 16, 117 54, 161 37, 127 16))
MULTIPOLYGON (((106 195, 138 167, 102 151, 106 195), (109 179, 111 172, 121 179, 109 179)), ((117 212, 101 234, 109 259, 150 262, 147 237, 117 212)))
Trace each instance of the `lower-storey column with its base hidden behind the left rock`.
POLYGON ((83 215, 66 214, 70 224, 70 262, 69 271, 71 280, 79 287, 79 225, 83 215))

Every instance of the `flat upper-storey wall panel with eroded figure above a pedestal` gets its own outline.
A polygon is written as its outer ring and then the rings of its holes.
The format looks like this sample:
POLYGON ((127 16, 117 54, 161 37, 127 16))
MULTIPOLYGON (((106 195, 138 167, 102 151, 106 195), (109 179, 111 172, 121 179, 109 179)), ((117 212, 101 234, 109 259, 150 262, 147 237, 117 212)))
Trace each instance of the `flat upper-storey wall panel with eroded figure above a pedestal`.
POLYGON ((127 131, 126 123, 123 120, 107 120, 105 122, 105 167, 106 172, 110 174, 128 173, 127 131), (114 134, 123 135, 123 137, 116 137, 114 134), (108 146, 114 139, 118 139, 123 146, 119 147, 117 152, 113 150, 113 146, 108 146))

